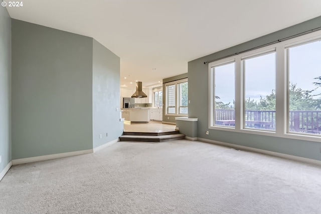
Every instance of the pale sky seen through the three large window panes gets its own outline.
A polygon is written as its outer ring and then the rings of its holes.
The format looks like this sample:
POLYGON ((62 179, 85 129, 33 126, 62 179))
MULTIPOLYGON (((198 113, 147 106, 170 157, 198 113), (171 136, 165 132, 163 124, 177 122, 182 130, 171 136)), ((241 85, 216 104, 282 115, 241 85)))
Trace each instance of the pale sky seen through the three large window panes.
MULTIPOLYGON (((321 76, 321 42, 289 49, 289 81, 302 90, 316 86, 313 78, 321 76)), ((233 104, 235 100, 234 63, 215 68, 215 95, 219 101, 233 104)), ((275 89, 275 53, 245 60, 245 98, 260 100, 275 89)), ((321 87, 314 94, 321 93, 321 87)), ((316 96, 315 98, 321 98, 316 96)))

